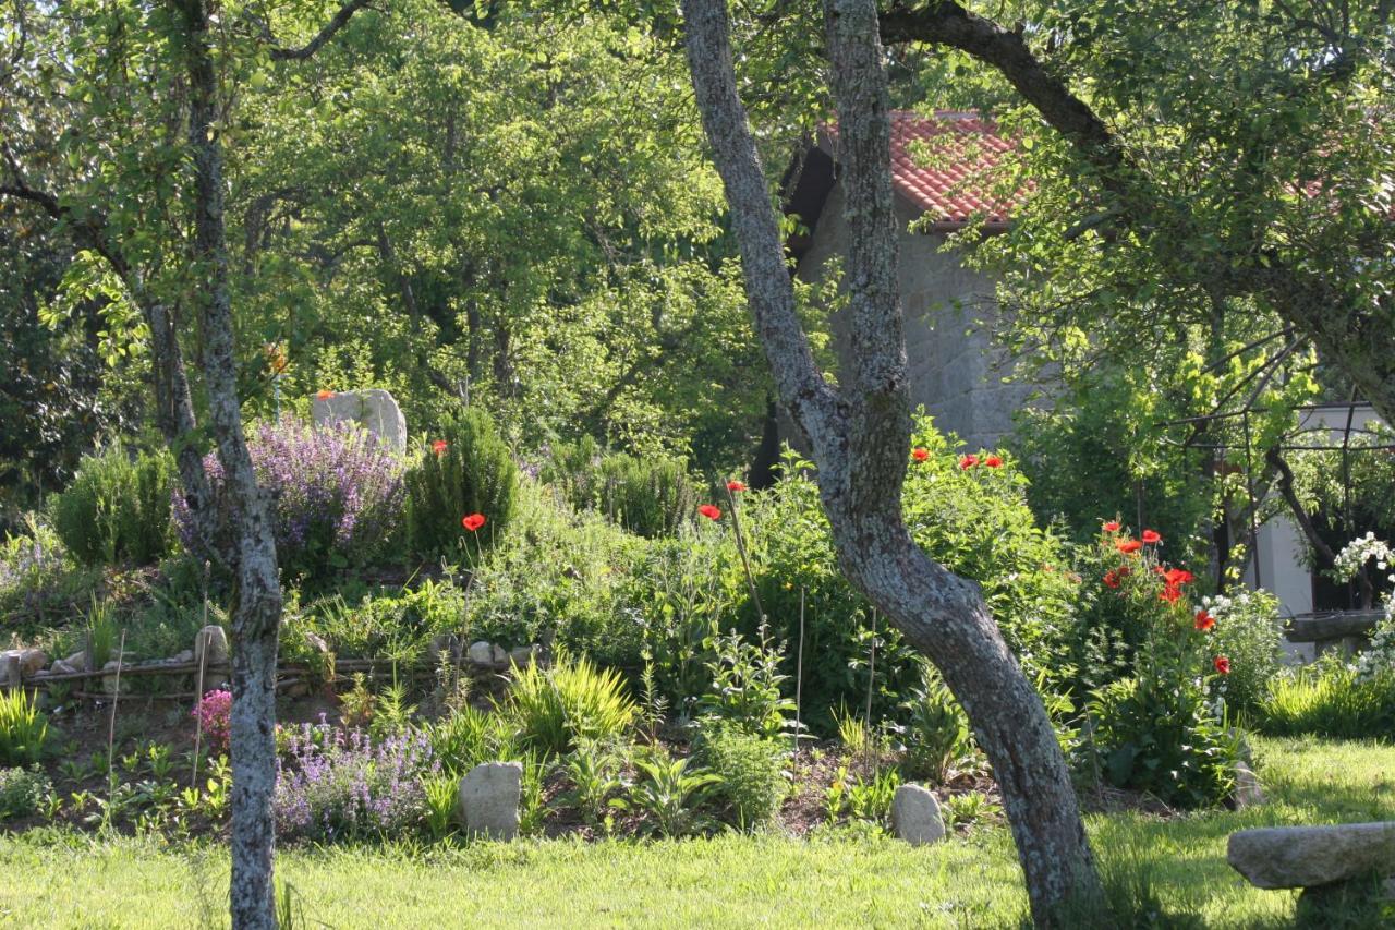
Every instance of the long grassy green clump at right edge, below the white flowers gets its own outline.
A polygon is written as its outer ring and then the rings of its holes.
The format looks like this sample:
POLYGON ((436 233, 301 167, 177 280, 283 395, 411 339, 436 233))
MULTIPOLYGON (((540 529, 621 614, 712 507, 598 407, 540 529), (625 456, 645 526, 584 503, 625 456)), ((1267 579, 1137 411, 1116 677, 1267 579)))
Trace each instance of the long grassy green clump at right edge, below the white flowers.
POLYGON ((1256 715, 1271 736, 1395 740, 1395 672, 1360 676, 1338 660, 1321 660, 1269 683, 1256 715))

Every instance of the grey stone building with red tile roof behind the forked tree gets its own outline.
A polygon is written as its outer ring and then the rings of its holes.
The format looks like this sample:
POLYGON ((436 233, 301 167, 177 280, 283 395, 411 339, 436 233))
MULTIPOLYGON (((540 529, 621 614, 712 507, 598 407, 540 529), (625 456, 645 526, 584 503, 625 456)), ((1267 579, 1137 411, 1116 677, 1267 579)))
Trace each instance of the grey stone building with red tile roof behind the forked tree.
MULTIPOLYGON (((923 404, 939 429, 957 433, 972 448, 1002 441, 1032 388, 1003 383, 1009 366, 982 325, 996 313, 993 279, 965 268, 942 247, 949 233, 970 222, 985 233, 1006 229, 1007 211, 985 202, 979 191, 985 169, 1009 147, 975 115, 940 112, 928 119, 897 112, 891 117, 911 404, 923 404), (912 222, 918 232, 910 230, 912 222)), ((826 133, 788 184, 787 212, 797 214, 808 230, 788 243, 804 281, 819 279, 847 251, 836 158, 837 137, 826 133)), ((840 332, 837 318, 833 331, 840 332)))

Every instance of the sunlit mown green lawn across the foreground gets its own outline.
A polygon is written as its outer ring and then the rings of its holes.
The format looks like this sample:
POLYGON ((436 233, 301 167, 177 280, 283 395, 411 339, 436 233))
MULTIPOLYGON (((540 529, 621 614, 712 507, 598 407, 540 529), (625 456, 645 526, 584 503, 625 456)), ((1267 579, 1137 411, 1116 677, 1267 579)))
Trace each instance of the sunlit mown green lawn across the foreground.
MULTIPOLYGON (((1163 912, 1214 927, 1290 926, 1296 895, 1257 891, 1225 838, 1267 824, 1395 820, 1395 747, 1258 740, 1271 803, 1159 821, 1092 817, 1105 870, 1163 912), (1141 895, 1140 895, 1141 896, 1141 895)), ((1006 829, 929 849, 845 835, 661 843, 523 842, 465 849, 286 850, 307 926, 1017 924, 1025 909, 1006 829)), ((219 926, 218 850, 43 834, 0 838, 0 926, 219 926)))

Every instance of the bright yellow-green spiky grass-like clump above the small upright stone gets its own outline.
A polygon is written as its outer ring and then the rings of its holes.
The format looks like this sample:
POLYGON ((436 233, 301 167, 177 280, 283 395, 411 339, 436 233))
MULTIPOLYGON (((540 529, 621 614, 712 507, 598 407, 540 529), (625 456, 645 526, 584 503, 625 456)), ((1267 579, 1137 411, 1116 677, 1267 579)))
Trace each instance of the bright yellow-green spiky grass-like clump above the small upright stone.
POLYGON ((618 736, 639 712, 618 672, 565 654, 550 669, 518 669, 505 709, 523 743, 544 753, 565 753, 579 739, 618 736))

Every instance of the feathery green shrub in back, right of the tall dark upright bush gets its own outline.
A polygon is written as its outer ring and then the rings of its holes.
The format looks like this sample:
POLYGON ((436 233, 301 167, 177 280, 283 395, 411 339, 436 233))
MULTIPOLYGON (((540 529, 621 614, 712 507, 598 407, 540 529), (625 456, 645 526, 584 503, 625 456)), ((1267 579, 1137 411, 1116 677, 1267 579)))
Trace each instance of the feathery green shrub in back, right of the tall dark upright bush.
POLYGON ((554 445, 540 478, 578 510, 594 507, 639 536, 672 536, 698 504, 682 458, 603 455, 590 437, 554 445))

